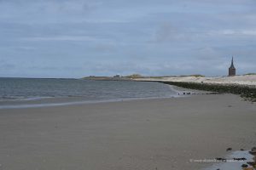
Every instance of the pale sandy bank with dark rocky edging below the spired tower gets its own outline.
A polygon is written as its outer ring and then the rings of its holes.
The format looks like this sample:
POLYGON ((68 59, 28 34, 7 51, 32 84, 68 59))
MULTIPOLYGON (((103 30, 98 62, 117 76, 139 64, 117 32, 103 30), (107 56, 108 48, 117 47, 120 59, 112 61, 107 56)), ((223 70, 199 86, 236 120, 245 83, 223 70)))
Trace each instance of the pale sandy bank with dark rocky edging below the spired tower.
POLYGON ((162 82, 181 88, 217 92, 220 94, 238 94, 256 102, 256 76, 236 77, 161 77, 138 78, 143 82, 162 82))

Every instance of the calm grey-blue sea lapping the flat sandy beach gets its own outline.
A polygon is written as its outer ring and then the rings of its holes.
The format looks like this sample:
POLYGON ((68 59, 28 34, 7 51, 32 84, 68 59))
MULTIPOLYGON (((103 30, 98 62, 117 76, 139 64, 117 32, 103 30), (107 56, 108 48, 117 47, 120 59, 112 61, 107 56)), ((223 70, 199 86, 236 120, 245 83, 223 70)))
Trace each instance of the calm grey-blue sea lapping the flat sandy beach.
POLYGON ((0 109, 176 96, 160 82, 0 78, 0 109))

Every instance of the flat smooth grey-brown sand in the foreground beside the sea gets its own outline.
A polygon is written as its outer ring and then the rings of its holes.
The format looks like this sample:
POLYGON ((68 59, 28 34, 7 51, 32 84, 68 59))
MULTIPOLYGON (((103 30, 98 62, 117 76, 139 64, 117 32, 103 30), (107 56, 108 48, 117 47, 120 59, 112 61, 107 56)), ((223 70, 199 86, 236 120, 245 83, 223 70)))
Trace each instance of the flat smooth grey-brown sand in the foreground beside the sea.
POLYGON ((201 169, 256 145, 256 105, 233 94, 0 110, 0 169, 201 169))

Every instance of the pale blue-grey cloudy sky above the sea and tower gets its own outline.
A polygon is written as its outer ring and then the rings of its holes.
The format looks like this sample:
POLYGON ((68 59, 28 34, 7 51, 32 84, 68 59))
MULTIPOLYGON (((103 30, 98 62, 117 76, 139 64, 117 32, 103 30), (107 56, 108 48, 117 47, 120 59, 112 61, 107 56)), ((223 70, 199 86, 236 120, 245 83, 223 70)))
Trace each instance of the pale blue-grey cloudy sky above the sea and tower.
POLYGON ((0 0, 0 77, 256 72, 255 0, 0 0))

